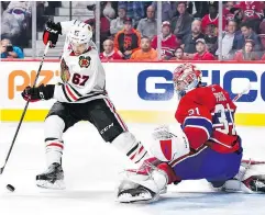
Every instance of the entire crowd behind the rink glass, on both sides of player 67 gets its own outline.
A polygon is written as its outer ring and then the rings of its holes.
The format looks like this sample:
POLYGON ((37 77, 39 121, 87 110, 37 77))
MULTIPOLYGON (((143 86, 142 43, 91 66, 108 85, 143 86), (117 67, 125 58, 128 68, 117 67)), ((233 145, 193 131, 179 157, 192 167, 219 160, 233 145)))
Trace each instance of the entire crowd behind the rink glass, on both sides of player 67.
MULTIPOLYGON (((43 30, 46 16, 55 15, 59 4, 37 2, 38 31, 43 30)), ((1 5, 1 41, 7 39, 14 50, 20 47, 23 52, 31 42, 32 2, 2 1, 1 5)), ((96 4, 89 4, 86 10, 93 11, 96 16, 96 4)), ((156 1, 100 1, 100 58, 217 60, 221 56, 223 60, 264 60, 264 1, 223 1, 222 8, 218 1, 163 1, 162 32, 157 32, 156 1), (157 41, 161 41, 159 55, 157 41)), ((96 31, 95 18, 85 22, 96 31)), ((92 39, 96 41, 96 34, 92 39)), ((1 45, 1 57, 15 56, 3 50, 1 45)))

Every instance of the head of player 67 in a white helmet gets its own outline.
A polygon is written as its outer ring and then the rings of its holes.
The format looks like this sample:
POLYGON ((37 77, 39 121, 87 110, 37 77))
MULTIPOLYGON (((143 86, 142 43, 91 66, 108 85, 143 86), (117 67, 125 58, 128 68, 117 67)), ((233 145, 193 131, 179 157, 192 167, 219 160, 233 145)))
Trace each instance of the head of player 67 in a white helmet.
POLYGON ((70 49, 77 56, 84 54, 89 47, 91 37, 92 29, 89 24, 80 23, 78 26, 74 25, 68 33, 70 49))

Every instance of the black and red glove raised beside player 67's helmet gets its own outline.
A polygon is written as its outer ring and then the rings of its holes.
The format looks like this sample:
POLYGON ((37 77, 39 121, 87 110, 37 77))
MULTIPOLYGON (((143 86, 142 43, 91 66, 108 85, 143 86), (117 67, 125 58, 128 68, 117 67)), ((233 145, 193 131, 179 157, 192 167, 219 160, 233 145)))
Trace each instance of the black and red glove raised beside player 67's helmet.
POLYGON ((46 23, 46 29, 43 33, 43 43, 46 45, 51 41, 49 47, 53 48, 56 46, 58 41, 58 35, 62 35, 62 26, 58 23, 54 23, 52 20, 48 20, 46 23))

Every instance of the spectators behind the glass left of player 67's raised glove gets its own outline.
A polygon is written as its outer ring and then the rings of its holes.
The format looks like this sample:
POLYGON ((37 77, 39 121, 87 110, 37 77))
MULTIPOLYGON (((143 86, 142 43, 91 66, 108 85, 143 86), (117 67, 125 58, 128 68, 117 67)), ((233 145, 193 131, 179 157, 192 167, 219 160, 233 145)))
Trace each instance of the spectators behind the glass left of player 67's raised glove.
MULTIPOLYGON (((1 58, 24 58, 23 48, 31 46, 32 5, 32 1, 1 1, 1 58)), ((44 30, 58 5, 58 1, 36 2, 37 31, 44 30)))

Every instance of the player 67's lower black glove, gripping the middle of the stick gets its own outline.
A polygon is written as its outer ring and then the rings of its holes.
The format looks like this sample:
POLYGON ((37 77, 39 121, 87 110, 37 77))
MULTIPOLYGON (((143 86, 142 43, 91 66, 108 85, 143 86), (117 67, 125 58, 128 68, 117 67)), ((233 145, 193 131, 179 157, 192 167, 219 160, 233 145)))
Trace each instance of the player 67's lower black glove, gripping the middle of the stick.
POLYGON ((54 84, 41 84, 37 88, 26 87, 21 93, 25 101, 37 102, 40 100, 49 100, 54 95, 54 84))

